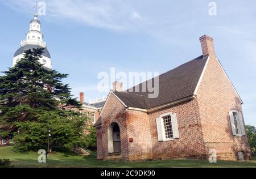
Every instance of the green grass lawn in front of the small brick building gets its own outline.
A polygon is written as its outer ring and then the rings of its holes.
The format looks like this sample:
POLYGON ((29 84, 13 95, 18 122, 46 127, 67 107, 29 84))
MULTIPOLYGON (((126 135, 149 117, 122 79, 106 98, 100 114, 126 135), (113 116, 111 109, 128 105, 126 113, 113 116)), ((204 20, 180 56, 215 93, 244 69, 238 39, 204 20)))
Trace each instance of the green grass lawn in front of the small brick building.
POLYGON ((159 160, 136 163, 98 161, 96 152, 92 156, 84 157, 71 152, 59 151, 48 157, 47 164, 38 163, 37 152, 19 154, 13 151, 13 147, 0 147, 0 159, 10 159, 14 167, 110 167, 110 168, 158 168, 158 167, 256 167, 256 157, 251 161, 217 161, 210 164, 208 161, 201 160, 159 160))

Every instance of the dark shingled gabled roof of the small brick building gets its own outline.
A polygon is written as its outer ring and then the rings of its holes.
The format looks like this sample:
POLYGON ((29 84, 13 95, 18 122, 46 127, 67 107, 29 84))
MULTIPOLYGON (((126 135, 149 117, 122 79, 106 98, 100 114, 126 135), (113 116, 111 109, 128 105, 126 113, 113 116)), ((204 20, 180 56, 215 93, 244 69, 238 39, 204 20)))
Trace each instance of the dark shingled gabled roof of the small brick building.
MULTIPOLYGON (((149 98, 150 92, 135 91, 135 87, 126 92, 114 92, 129 107, 150 109, 156 106, 171 103, 172 101, 184 99, 195 95, 197 84, 203 73, 208 56, 200 56, 192 61, 184 63, 176 69, 170 70, 159 76, 159 95, 156 98, 149 98)), ((148 84, 147 82, 144 82, 148 84)), ((143 84, 139 84, 139 89, 143 84)), ((152 80, 154 86, 154 80, 152 80)), ((138 87, 137 86, 137 87, 138 87)), ((140 90, 142 91, 142 90, 140 90)))

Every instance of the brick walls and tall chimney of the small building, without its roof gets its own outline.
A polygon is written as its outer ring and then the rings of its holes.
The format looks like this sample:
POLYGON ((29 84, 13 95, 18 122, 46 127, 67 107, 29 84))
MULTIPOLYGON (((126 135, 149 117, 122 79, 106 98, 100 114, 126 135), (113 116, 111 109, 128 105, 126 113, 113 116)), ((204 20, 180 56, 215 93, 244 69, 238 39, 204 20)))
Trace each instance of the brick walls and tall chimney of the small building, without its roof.
POLYGON ((251 158, 244 132, 242 100, 215 55, 212 37, 203 36, 200 41, 206 58, 202 59, 205 60, 204 69, 192 97, 142 109, 127 104, 129 98, 126 101, 118 96, 119 93, 109 93, 94 125, 97 129, 98 159, 208 159, 210 150, 216 151, 218 160, 237 160, 238 152, 242 152, 245 159, 251 158), (241 135, 236 135, 232 128, 234 125, 229 115, 232 110, 241 115, 241 135), (175 139, 161 141, 156 119, 167 113, 176 114, 179 135, 175 139), (119 126, 121 151, 113 150, 110 130, 113 123, 119 126))

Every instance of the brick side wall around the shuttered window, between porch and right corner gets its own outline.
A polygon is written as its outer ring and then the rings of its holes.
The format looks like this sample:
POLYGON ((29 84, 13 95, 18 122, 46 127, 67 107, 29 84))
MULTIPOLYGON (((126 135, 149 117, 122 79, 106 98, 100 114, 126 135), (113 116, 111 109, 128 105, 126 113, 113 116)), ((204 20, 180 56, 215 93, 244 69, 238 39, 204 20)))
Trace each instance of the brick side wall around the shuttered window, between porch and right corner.
POLYGON ((203 132, 197 100, 149 113, 154 159, 205 158, 203 132), (158 142, 156 118, 164 113, 176 113, 179 139, 158 142))

